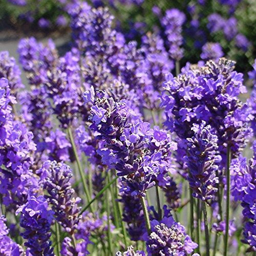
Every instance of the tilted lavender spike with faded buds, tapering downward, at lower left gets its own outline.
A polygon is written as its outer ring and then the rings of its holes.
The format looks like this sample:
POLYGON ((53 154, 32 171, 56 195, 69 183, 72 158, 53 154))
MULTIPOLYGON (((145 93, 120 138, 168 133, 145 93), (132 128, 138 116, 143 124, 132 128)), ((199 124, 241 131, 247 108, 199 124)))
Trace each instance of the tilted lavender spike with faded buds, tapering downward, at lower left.
POLYGON ((42 186, 48 191, 49 200, 56 216, 56 220, 71 235, 75 232, 79 222, 78 206, 80 198, 74 197, 74 189, 71 186, 71 168, 65 163, 46 161, 37 171, 41 177, 42 186))

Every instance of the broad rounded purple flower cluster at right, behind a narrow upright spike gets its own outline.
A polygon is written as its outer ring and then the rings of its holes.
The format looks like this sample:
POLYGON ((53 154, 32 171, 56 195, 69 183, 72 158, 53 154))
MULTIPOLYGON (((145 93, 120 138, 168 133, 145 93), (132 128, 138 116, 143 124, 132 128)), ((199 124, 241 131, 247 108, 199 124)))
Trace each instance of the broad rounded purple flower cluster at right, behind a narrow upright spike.
POLYGON ((162 95, 161 103, 165 107, 165 125, 181 139, 178 144, 184 155, 184 140, 193 136, 190 128, 199 120, 210 124, 218 136, 223 164, 227 145, 235 154, 246 145, 252 116, 249 106, 238 99, 246 89, 242 74, 233 69, 232 61, 221 58, 201 68, 189 65, 178 77, 167 75, 167 94, 162 95))

